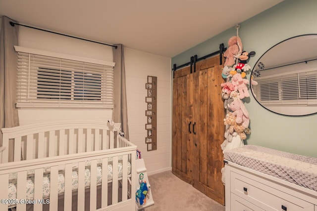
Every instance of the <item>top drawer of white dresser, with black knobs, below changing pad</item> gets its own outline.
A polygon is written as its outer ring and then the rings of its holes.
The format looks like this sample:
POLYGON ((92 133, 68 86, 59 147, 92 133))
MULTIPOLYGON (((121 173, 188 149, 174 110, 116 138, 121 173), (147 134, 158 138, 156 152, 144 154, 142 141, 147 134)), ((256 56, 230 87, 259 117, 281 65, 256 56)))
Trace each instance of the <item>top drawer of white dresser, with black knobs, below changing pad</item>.
MULTIPOLYGON (((265 179, 251 178, 230 172, 231 193, 265 211, 314 211, 314 205, 278 190, 278 185, 267 186, 265 179)), ((248 174, 246 174, 248 175, 248 174)))

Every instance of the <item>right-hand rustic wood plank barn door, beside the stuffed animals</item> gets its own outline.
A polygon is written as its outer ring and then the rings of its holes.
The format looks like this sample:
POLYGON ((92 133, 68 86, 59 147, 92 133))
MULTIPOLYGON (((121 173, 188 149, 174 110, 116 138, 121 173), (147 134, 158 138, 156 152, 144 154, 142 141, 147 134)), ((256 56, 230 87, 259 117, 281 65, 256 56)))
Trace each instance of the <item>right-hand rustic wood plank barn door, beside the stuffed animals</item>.
POLYGON ((199 71, 199 82, 196 82, 200 87, 199 93, 196 93, 200 100, 195 101, 197 105, 194 104, 196 113, 199 113, 199 137, 196 140, 199 156, 196 157, 196 167, 193 169, 199 172, 199 177, 194 179, 193 186, 216 202, 224 204, 224 186, 221 182, 223 154, 220 147, 224 133, 221 67, 219 56, 208 59, 207 68, 199 71))

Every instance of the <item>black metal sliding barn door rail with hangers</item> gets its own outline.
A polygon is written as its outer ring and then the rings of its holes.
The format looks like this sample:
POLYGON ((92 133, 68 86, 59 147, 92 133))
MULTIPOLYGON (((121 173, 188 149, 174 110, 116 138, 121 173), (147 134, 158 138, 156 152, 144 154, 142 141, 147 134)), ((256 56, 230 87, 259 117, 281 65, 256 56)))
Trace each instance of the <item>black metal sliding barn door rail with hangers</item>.
MULTIPOLYGON (((226 51, 226 47, 224 47, 224 44, 221 43, 219 44, 219 50, 213 52, 213 53, 210 53, 208 55, 205 55, 203 57, 200 57, 198 58, 197 55, 194 55, 194 56, 191 56, 190 57, 190 62, 187 62, 185 64, 182 64, 182 65, 179 65, 179 66, 176 66, 176 64, 173 64, 173 69, 172 71, 176 71, 178 69, 181 69, 183 67, 186 67, 188 65, 190 65, 190 72, 193 73, 193 68, 194 68, 194 73, 196 72, 196 62, 199 62, 201 60, 204 60, 206 58, 209 58, 211 56, 214 56, 214 55, 217 55, 217 54, 220 54, 220 59, 219 59, 219 64, 222 65, 222 54, 224 53, 224 51, 226 51)), ((174 78, 174 72, 173 72, 173 78, 174 78)))

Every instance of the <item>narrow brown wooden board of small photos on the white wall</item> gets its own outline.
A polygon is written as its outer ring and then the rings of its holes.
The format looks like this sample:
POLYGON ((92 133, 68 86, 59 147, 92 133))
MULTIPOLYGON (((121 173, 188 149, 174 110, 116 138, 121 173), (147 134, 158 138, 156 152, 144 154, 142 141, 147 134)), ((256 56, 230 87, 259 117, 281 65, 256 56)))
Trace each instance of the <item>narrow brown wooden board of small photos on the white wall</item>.
POLYGON ((148 76, 148 81, 145 84, 147 90, 147 96, 145 97, 145 102, 147 103, 147 110, 145 111, 147 137, 145 138, 145 143, 148 151, 157 149, 157 83, 157 77, 148 76))

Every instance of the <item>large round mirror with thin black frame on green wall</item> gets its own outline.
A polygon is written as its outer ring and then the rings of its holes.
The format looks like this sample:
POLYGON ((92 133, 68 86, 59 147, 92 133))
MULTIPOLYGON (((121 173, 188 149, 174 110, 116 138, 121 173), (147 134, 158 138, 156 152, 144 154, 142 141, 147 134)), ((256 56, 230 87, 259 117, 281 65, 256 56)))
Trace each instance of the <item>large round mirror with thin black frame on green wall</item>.
POLYGON ((317 113, 317 34, 268 49, 252 70, 251 91, 267 110, 286 116, 317 113))

